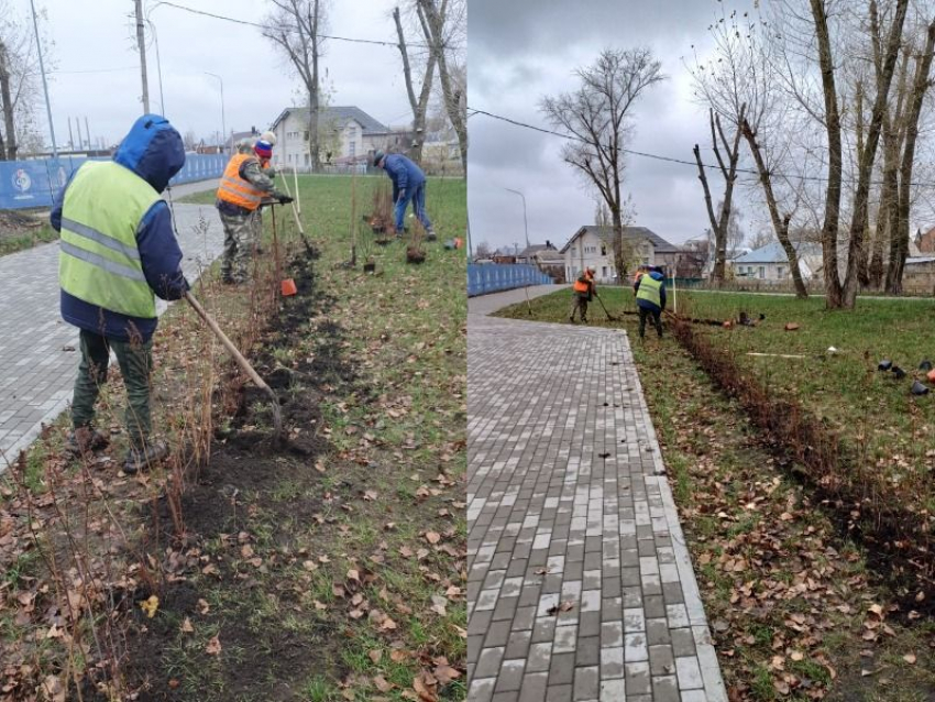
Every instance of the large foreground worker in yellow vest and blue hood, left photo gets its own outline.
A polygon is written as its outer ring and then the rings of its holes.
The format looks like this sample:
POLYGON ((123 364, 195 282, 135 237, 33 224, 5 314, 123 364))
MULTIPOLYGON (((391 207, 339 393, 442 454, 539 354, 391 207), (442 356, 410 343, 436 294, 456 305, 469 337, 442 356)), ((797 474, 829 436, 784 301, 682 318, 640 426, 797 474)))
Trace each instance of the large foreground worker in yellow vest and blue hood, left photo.
POLYGON ((62 232, 62 317, 80 329, 68 448, 80 454, 108 443, 94 419, 112 350, 127 386, 127 473, 168 453, 165 443, 150 440, 150 372, 154 294, 170 300, 188 290, 172 215, 160 198, 183 164, 185 146, 175 128, 164 117, 144 114, 112 161, 88 161, 73 174, 51 216, 62 232))

